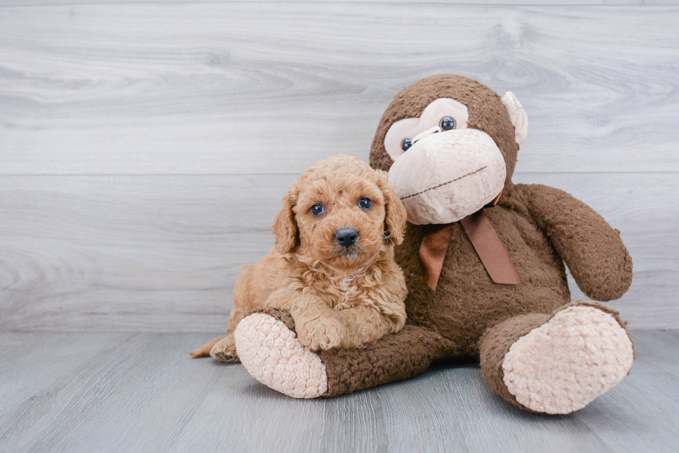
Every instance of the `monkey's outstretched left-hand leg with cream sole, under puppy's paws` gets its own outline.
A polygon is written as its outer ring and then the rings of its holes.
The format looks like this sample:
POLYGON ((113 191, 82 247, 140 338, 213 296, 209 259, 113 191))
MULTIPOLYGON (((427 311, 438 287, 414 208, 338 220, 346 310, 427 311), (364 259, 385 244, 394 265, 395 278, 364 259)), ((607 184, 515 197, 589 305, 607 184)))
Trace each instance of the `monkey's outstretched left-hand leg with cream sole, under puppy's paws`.
POLYGON ((437 333, 405 326, 365 349, 313 353, 297 340, 289 313, 267 309, 238 324, 236 346, 256 380, 293 398, 318 398, 415 376, 449 344, 437 333))

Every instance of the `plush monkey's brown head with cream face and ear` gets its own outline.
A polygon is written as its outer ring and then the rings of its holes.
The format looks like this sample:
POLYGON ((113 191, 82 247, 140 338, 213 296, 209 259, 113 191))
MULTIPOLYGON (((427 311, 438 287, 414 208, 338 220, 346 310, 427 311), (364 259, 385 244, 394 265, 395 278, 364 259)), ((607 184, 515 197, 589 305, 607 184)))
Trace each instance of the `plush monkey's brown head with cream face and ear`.
POLYGON ((513 93, 476 80, 434 75, 403 89, 382 115, 370 165, 389 183, 411 223, 452 223, 512 187, 528 118, 513 93))

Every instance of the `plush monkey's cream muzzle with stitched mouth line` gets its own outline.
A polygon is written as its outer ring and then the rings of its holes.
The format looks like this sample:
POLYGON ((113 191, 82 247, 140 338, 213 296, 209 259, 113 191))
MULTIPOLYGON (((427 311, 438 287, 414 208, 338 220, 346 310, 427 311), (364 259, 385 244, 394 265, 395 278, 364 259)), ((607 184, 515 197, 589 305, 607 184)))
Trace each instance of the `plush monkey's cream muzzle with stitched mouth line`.
POLYGON ((502 152, 477 129, 427 129, 389 169, 389 183, 416 225, 457 222, 493 201, 504 187, 502 152))

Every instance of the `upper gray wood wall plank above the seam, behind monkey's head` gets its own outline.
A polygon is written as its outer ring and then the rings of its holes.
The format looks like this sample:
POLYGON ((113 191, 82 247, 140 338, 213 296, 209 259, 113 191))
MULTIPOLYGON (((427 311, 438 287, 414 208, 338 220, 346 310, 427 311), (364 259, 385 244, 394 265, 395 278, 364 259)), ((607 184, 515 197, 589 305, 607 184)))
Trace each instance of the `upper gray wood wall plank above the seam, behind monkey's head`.
POLYGON ((678 172, 678 20, 674 6, 3 8, 0 172, 296 174, 367 157, 398 90, 446 72, 518 95, 521 171, 678 172))

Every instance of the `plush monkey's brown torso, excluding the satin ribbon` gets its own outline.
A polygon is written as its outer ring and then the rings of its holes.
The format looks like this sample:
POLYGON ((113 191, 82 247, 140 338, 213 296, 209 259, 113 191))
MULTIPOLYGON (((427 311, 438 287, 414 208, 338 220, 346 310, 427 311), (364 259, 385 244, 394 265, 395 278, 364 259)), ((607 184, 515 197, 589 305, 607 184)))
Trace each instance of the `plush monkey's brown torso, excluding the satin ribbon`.
POLYGON ((563 262, 536 225, 504 206, 488 209, 486 215, 524 284, 494 283, 460 223, 453 224, 436 293, 425 284, 417 253, 405 247, 418 248, 408 239, 421 241, 422 228, 408 225, 406 243, 396 250, 409 288, 407 322, 443 335, 454 344, 455 355, 477 357, 477 340, 498 322, 549 313, 570 302, 563 262))

